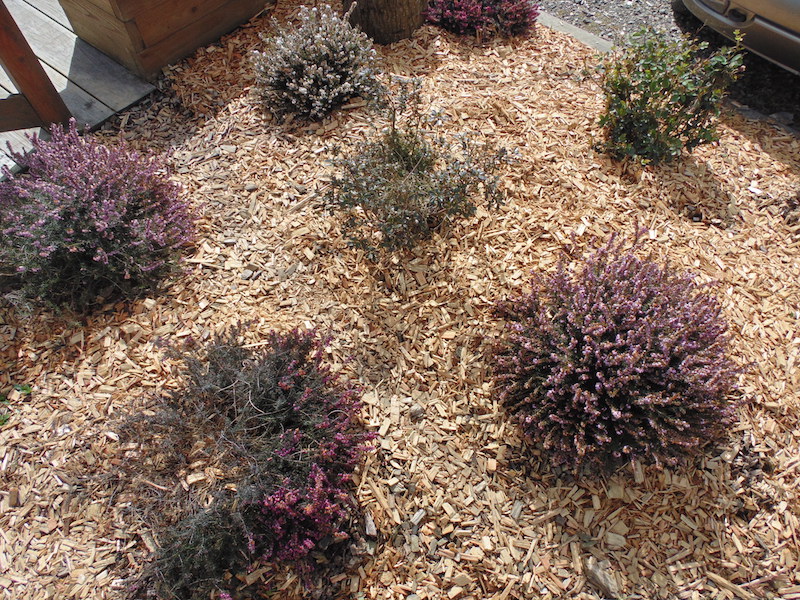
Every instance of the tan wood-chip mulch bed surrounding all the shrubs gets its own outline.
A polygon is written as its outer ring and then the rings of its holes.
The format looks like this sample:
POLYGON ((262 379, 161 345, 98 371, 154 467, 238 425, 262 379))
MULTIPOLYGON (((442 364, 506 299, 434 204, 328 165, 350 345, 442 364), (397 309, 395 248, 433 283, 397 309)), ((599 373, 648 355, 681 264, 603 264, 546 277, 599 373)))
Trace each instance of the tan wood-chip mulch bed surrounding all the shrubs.
MULTIPOLYGON (((365 389, 380 441, 357 498, 377 544, 334 579, 339 597, 598 598, 616 586, 626 598, 800 598, 800 226, 784 215, 800 140, 729 111, 718 144, 674 165, 615 163, 593 150, 603 98, 592 50, 543 27, 485 45, 424 27, 379 49, 386 72, 423 78, 449 132, 519 156, 502 208, 371 263, 319 198, 331 148, 381 122, 359 103, 312 127, 265 115, 248 54, 271 26, 262 15, 201 49, 168 71, 166 93, 106 127, 173 151, 201 215, 186 272, 163 294, 86 318, 0 311, 0 389, 33 386, 11 392, 0 429, 6 597, 121 597, 160 532, 119 493, 130 448, 116 423, 179 385, 162 342, 244 322, 252 343, 275 328, 332 335, 332 361, 365 389), (489 309, 552 268, 573 236, 586 248, 637 224, 648 251, 718 282, 748 365, 740 421, 691 464, 575 479, 498 406, 489 309)), ((202 495, 220 474, 195 467, 175 485, 202 495)), ((297 579, 259 575, 302 597, 297 579)))

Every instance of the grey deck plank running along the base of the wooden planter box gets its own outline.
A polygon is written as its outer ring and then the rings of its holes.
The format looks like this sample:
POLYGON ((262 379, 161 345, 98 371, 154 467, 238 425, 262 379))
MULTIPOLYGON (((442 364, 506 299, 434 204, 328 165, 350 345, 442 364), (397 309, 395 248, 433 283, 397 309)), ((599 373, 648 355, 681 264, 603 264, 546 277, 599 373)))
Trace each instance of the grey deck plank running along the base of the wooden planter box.
POLYGON ((37 56, 103 104, 122 110, 154 89, 23 0, 7 2, 37 56))

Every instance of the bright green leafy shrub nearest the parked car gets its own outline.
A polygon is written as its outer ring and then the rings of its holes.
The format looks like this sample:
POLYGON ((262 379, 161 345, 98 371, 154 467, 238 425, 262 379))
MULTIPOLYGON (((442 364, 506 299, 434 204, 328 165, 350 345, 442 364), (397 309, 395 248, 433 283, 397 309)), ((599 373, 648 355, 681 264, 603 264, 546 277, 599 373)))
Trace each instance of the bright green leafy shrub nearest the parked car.
POLYGON ((684 147, 691 151, 714 141, 713 119, 728 85, 739 77, 743 56, 729 47, 699 58, 707 46, 643 29, 609 57, 601 67, 601 149, 614 158, 660 163, 684 147))

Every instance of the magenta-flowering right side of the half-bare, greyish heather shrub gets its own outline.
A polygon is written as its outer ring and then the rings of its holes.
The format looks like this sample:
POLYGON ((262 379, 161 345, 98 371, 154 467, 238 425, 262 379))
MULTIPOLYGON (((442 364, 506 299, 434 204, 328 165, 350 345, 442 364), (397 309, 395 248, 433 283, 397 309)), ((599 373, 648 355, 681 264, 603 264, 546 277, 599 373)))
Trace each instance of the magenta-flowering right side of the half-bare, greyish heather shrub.
POLYGON ((252 515, 249 546, 262 562, 290 561, 302 570, 320 541, 349 537, 348 489, 374 435, 357 424, 358 390, 330 371, 323 362, 323 344, 313 333, 273 332, 269 340, 269 350, 254 361, 254 372, 269 372, 277 385, 261 388, 267 394, 250 396, 256 409, 252 415, 239 411, 245 430, 266 414, 272 420, 269 430, 277 430, 278 421, 281 430, 278 435, 262 432, 276 440, 267 462, 277 484, 265 487, 257 510, 246 511, 252 515))

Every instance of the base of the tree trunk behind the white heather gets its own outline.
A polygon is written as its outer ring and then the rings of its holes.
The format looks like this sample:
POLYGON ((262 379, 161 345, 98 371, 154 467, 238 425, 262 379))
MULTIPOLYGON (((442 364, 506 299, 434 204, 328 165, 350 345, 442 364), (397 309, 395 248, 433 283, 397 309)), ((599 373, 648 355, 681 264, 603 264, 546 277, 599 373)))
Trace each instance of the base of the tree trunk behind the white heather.
MULTIPOLYGON (((345 9, 350 0, 344 0, 345 9)), ((350 22, 378 44, 391 44, 411 37, 422 25, 428 0, 357 0, 350 22)))

